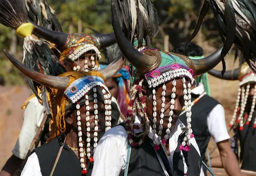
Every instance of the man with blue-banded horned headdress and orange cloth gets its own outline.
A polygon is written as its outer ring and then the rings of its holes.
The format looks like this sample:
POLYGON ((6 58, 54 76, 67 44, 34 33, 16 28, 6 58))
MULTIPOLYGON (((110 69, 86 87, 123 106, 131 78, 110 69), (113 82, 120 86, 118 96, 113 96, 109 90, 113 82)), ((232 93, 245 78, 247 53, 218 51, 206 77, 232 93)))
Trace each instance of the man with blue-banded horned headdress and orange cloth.
MULTIPOLYGON (((104 126, 105 131, 111 128, 111 96, 104 80, 121 68, 122 58, 99 71, 65 72, 56 77, 27 69, 5 54, 26 76, 51 89, 46 102, 52 113, 51 142, 32 152, 21 175, 86 175, 104 126)), ((119 114, 114 115, 117 120, 119 114)))

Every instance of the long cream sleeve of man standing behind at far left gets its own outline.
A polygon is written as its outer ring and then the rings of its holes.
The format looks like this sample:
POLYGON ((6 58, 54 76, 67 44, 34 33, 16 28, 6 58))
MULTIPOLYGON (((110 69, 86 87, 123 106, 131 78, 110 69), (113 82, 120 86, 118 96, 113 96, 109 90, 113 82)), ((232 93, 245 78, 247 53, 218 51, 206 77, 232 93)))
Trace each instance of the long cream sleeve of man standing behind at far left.
MULTIPOLYGON (((37 133, 37 130, 44 118, 44 106, 42 106, 36 97, 29 100, 23 114, 23 125, 19 138, 15 144, 12 153, 20 158, 25 159, 29 147, 37 133)), ((40 139, 40 137, 38 138, 40 139)), ((32 148, 32 150, 34 147, 32 148)))

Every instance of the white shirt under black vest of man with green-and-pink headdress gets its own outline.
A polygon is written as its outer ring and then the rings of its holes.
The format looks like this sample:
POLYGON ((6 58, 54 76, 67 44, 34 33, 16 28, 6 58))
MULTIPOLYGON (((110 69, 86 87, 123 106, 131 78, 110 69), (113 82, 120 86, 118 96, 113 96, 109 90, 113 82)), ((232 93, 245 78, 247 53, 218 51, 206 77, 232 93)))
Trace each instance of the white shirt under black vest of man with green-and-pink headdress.
MULTIPOLYGON (((140 117, 136 116, 136 122, 139 122, 140 117)), ((170 167, 173 170, 173 155, 178 147, 178 138, 184 133, 186 127, 178 120, 176 125, 170 130, 169 139, 169 151, 170 157, 168 157, 170 167)), ((139 132, 139 131, 138 131, 139 132)), ((150 127, 149 138, 152 139, 153 133, 150 127)), ((157 140, 157 135, 155 134, 157 140)), ((191 144, 195 147, 196 151, 200 155, 199 148, 194 138, 190 140, 191 144)), ((162 145, 162 144, 161 144, 162 145)), ((98 146, 94 152, 94 167, 92 176, 119 176, 121 170, 125 169, 125 161, 127 157, 127 131, 122 126, 115 126, 109 129, 105 135, 101 138, 98 146)), ((163 147, 167 156, 167 151, 163 147)), ((161 159, 161 158, 160 158, 161 159)), ((161 162, 161 161, 160 161, 161 162)), ((200 176, 203 176, 203 168, 201 167, 200 176)))

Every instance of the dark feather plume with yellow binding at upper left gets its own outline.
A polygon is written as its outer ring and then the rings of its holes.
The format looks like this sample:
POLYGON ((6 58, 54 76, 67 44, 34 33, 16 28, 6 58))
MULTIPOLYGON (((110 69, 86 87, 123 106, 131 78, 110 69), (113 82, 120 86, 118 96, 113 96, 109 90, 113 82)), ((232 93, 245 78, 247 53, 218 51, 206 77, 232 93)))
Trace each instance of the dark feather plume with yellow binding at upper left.
MULTIPOLYGON (((7 27, 16 29, 19 36, 24 37, 23 63, 30 69, 48 75, 59 75, 65 72, 58 58, 49 48, 49 43, 37 38, 32 34, 33 26, 27 23, 28 14, 24 0, 1 0, 0 1, 0 23, 7 27)), ((37 89, 41 89, 41 98, 44 102, 47 114, 50 108, 47 104, 47 90, 45 86, 34 82, 27 77, 28 84, 33 93, 38 96, 37 89)))

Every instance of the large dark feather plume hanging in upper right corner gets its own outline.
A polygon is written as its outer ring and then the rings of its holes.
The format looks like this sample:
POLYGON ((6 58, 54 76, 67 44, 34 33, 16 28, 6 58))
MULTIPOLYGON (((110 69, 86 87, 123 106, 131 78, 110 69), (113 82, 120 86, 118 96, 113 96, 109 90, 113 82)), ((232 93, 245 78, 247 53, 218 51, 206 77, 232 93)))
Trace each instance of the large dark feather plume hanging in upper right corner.
POLYGON ((199 31, 203 19, 211 9, 217 20, 224 42, 222 50, 223 71, 226 70, 224 57, 233 43, 243 53, 250 68, 255 71, 256 56, 256 3, 255 0, 205 0, 200 10, 196 28, 189 38, 191 41, 199 31))

